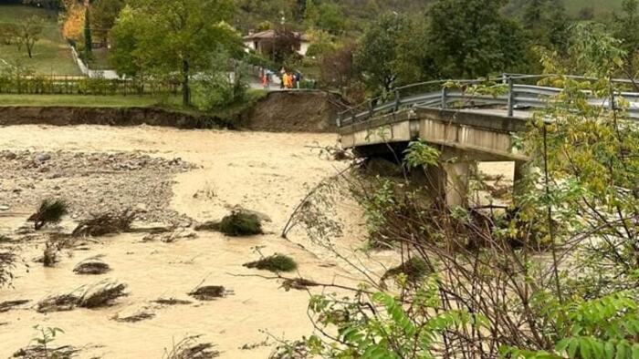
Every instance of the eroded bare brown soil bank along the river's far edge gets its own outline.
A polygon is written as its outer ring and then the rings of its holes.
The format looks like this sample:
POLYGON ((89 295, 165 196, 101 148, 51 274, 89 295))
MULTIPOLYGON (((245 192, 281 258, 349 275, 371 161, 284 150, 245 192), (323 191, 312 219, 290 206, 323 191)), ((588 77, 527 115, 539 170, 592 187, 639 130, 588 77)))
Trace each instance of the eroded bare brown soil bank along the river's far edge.
POLYGON ((0 126, 108 125, 248 128, 274 132, 333 132, 339 97, 319 91, 272 92, 246 111, 221 118, 166 108, 0 107, 0 126))

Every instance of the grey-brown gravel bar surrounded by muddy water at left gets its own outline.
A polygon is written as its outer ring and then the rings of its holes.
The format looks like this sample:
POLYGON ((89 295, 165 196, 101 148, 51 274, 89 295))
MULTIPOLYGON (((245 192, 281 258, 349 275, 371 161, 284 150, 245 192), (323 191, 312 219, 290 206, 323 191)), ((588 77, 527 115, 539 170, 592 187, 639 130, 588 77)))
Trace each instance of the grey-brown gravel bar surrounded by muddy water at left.
POLYGON ((180 216, 169 209, 173 174, 192 169, 182 159, 135 152, 2 150, 0 205, 29 212, 56 198, 74 219, 137 209, 143 221, 176 221, 180 216))

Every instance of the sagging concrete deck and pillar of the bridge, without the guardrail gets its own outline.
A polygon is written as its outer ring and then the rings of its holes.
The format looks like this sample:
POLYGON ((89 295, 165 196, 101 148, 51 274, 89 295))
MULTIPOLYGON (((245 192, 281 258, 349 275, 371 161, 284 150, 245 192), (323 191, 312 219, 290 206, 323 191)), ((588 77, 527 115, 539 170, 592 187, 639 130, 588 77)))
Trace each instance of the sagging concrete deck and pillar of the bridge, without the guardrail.
POLYGON ((411 108, 340 128, 341 144, 357 156, 401 156, 409 142, 423 140, 440 149, 442 165, 427 169, 429 182, 450 206, 467 204, 470 166, 477 161, 528 161, 512 146, 512 134, 526 128, 522 118, 485 113, 411 108))

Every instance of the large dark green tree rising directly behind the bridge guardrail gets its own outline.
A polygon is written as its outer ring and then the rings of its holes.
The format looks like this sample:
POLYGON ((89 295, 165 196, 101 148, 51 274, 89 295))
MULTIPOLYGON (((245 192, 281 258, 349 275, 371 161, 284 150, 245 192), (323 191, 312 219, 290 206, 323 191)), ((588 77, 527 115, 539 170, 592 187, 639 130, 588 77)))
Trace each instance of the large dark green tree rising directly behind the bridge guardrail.
POLYGON ((526 58, 519 25, 501 14, 506 0, 438 0, 429 16, 429 51, 447 77, 482 77, 526 58))

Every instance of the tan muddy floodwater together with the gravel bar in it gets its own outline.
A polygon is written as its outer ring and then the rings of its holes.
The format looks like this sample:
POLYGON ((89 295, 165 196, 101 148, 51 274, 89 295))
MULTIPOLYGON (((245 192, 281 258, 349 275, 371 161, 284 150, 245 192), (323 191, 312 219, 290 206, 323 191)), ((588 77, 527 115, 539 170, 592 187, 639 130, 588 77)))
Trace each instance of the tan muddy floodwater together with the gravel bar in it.
MULTIPOLYGON (((43 160, 54 162, 57 156, 64 156, 58 161, 64 162, 57 165, 59 169, 37 167, 28 172, 42 173, 42 177, 34 175, 28 183, 23 174, 0 175, 0 205, 10 207, 0 211, 0 233, 19 238, 15 231, 25 224, 40 195, 68 199, 79 215, 90 211, 79 207, 92 206, 94 201, 100 202, 97 210, 110 208, 110 202, 115 208, 137 205, 119 199, 119 189, 131 197, 137 195, 135 200, 141 202, 140 206, 152 206, 149 210, 160 215, 151 216, 149 221, 161 224, 172 218, 181 223, 218 220, 238 205, 271 219, 265 223, 267 234, 254 238, 229 239, 215 232, 198 232, 195 238, 168 243, 142 241, 143 233, 98 238, 88 241, 81 250, 63 250, 60 262, 53 268, 33 261, 42 254, 44 240, 32 237, 30 241, 14 243, 23 262, 16 265, 13 286, 0 289, 0 303, 30 302, 0 313, 0 357, 8 357, 28 345, 37 334, 33 329, 37 324, 63 329, 65 333, 58 334, 54 346, 73 345, 81 349, 81 358, 161 358, 165 349, 186 335, 202 335, 201 340, 215 344, 221 357, 264 358, 274 345, 272 340, 263 343, 267 333, 285 339, 308 335, 312 331, 307 316, 309 292, 286 292, 278 281, 245 276, 269 273, 249 270, 242 264, 257 260, 259 255, 254 248, 260 246, 265 254, 285 253, 295 258, 299 274, 304 277, 319 282, 353 277, 328 253, 314 251, 303 233, 294 232, 291 241, 278 236, 309 186, 347 165, 321 159, 317 150, 309 148, 334 145, 336 139, 331 134, 151 127, 0 128, 0 151, 13 151, 25 158, 46 153, 51 159, 43 160), (70 155, 73 153, 77 156, 70 155), (109 154, 116 155, 109 158, 109 154), (167 170, 141 172, 136 166, 155 163, 147 156, 166 159, 167 165, 162 162, 158 166, 167 170), (89 170, 88 161, 112 162, 113 158, 124 159, 128 164, 102 172, 89 170), (142 158, 143 164, 138 165, 142 158), (77 166, 74 160, 78 160, 77 166), (176 163, 177 167, 173 166, 176 163), (56 170, 61 172, 53 174, 56 170), (131 174, 122 170, 131 170, 131 174), (69 171, 75 174, 68 175, 69 171), (141 176, 144 173, 147 174, 141 176), (109 187, 109 176, 117 177, 113 182, 119 187, 109 187), (104 193, 100 197, 101 192, 104 193), (162 199, 167 193, 170 198, 162 199), (153 196, 158 198, 151 199, 153 196), (10 203, 3 203, 3 199, 10 203), (91 203, 83 199, 90 199, 91 203), (111 268, 107 274, 86 276, 72 272, 79 262, 98 255, 111 268), (73 291, 104 278, 128 284, 128 296, 100 309, 76 308, 56 313, 37 313, 34 309, 47 295, 73 291), (223 285, 229 293, 210 302, 188 296, 202 283, 223 285), (169 298, 190 303, 155 303, 169 298), (115 320, 142 312, 152 316, 136 323, 115 320)), ((16 159, 16 154, 11 157, 13 161, 20 159, 16 159)), ((6 171, 31 170, 27 163, 26 167, 15 165, 6 171)), ((73 229, 73 217, 70 215, 61 223, 66 231, 73 229)), ((356 246, 355 238, 361 238, 358 231, 362 231, 360 225, 349 226, 343 241, 352 241, 356 246)))

